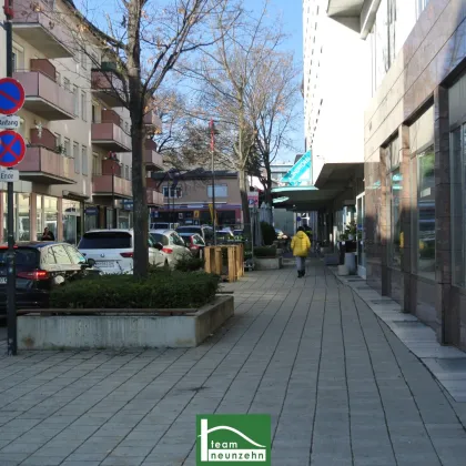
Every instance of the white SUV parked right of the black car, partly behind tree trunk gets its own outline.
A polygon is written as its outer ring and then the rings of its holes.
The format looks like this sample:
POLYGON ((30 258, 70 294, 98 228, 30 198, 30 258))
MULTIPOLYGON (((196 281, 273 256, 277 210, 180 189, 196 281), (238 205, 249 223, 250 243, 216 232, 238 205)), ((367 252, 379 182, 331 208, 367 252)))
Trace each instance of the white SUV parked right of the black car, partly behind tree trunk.
MULTIPOLYGON (((91 230, 78 244, 79 251, 93 259, 105 274, 133 272, 134 232, 132 230, 91 230)), ((168 265, 168 255, 149 239, 149 263, 168 265)))

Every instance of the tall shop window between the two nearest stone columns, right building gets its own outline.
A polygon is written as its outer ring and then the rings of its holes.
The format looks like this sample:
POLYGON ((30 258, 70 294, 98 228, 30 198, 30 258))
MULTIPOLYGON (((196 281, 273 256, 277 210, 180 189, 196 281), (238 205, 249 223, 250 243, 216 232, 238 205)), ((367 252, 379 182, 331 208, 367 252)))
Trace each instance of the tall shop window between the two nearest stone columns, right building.
POLYGON ((435 280, 435 152, 434 146, 417 154, 417 211, 414 232, 417 242, 415 270, 435 280))

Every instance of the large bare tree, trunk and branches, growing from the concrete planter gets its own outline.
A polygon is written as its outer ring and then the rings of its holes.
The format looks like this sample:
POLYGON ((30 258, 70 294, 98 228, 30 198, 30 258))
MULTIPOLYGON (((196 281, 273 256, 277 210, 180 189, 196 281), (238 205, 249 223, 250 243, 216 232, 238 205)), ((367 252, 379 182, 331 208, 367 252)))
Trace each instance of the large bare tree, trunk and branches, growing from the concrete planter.
MULTIPOLYGON (((229 0, 166 0, 164 4, 154 0, 114 0, 114 13, 110 16, 94 2, 85 11, 79 11, 68 0, 61 9, 50 3, 41 7, 42 13, 69 27, 70 44, 90 57, 93 69, 99 69, 101 62, 95 60, 92 48, 99 48, 102 55, 115 63, 115 70, 110 73, 101 69, 101 75, 130 113, 134 275, 145 276, 149 215, 143 164, 144 115, 153 109, 154 95, 176 63, 221 40, 236 21, 239 7, 229 0), (93 18, 104 18, 104 21, 99 21, 98 28, 93 18), (222 24, 221 31, 215 27, 217 23, 222 24)), ((31 8, 37 9, 33 4, 31 8)))

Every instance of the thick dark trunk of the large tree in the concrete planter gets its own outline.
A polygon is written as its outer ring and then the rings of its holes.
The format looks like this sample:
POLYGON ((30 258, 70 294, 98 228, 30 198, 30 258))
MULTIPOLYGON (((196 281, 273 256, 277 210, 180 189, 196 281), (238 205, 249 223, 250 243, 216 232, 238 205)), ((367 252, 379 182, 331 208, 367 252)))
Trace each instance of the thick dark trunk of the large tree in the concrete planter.
POLYGON ((134 276, 144 277, 149 271, 149 211, 145 195, 145 166, 142 163, 144 145, 142 121, 132 126, 132 186, 133 186, 133 227, 134 227, 134 276))

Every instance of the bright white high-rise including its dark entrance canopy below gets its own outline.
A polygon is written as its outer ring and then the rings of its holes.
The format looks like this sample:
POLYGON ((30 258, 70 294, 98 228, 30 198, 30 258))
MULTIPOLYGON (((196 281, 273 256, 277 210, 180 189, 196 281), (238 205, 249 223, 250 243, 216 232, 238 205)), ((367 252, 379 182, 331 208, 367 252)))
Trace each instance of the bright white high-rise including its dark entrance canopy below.
POLYGON ((304 115, 312 153, 307 193, 320 212, 318 239, 336 244, 364 195, 364 104, 369 48, 327 16, 328 0, 303 0, 304 115))

